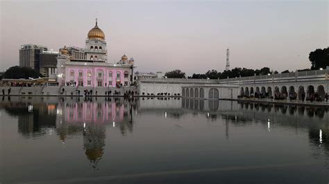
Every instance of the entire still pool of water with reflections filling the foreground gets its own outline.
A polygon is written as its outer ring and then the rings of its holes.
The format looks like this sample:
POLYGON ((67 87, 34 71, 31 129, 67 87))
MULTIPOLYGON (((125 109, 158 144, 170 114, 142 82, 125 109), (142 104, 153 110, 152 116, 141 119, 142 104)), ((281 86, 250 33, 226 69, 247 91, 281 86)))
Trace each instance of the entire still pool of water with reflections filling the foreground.
POLYGON ((328 109, 0 98, 0 183, 328 183, 328 109))

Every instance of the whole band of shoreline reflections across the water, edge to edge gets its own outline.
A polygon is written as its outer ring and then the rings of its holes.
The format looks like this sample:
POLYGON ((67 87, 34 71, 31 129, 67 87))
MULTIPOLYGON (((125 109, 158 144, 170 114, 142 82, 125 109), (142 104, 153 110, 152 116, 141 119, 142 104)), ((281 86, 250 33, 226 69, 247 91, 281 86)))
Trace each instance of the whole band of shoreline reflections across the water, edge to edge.
POLYGON ((23 138, 54 132, 63 146, 69 138, 81 138, 81 151, 95 171, 103 156, 110 155, 105 153, 106 136, 110 136, 106 134, 107 129, 121 136, 133 134, 134 117, 148 117, 149 114, 169 119, 168 123, 170 118, 178 122, 188 115, 201 117, 208 126, 223 122, 225 129, 220 131, 225 141, 239 138, 235 128, 252 127, 249 125, 260 125, 262 133, 266 134, 275 134, 278 128, 301 130, 307 132, 310 145, 323 150, 329 158, 328 109, 319 107, 185 98, 181 102, 173 98, 3 98, 0 109, 17 117, 17 131, 23 138), (32 112, 28 111, 29 105, 33 105, 32 112))

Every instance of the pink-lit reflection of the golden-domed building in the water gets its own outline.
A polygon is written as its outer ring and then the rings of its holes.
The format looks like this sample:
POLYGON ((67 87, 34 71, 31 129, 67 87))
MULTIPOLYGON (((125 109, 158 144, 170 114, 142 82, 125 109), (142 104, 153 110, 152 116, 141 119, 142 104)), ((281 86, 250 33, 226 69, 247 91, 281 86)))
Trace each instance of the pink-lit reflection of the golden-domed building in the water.
POLYGON ((133 133, 137 99, 87 98, 59 100, 56 131, 65 145, 72 136, 83 136, 83 150, 94 170, 104 155, 106 127, 119 129, 122 136, 133 133))

